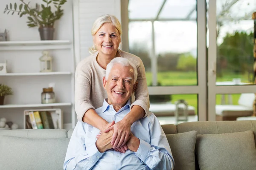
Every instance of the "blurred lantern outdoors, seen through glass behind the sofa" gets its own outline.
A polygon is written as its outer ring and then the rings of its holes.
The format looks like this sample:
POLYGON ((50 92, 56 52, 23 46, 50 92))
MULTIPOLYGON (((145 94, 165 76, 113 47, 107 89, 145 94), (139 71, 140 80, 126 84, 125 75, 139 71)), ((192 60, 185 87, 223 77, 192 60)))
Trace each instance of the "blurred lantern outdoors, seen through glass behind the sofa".
POLYGON ((178 121, 188 121, 188 103, 184 99, 180 99, 175 102, 176 110, 175 110, 175 117, 176 122, 178 121), (182 116, 182 118, 180 118, 182 116))

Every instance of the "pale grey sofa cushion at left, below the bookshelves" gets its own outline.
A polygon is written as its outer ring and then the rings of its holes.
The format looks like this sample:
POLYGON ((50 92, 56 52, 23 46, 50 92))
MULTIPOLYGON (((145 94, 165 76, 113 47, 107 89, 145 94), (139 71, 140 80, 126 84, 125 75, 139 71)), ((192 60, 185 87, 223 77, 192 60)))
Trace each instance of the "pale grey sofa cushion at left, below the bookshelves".
POLYGON ((0 135, 0 170, 63 170, 69 140, 0 135))

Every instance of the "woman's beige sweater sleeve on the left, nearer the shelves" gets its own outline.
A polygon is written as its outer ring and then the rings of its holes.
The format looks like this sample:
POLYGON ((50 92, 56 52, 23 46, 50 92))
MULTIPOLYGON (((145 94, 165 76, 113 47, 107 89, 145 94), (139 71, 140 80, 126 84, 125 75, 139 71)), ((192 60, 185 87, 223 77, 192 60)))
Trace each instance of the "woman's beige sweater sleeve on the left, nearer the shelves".
POLYGON ((76 67, 75 74, 75 110, 77 119, 81 122, 87 110, 95 109, 90 101, 91 74, 85 73, 82 66, 76 67))

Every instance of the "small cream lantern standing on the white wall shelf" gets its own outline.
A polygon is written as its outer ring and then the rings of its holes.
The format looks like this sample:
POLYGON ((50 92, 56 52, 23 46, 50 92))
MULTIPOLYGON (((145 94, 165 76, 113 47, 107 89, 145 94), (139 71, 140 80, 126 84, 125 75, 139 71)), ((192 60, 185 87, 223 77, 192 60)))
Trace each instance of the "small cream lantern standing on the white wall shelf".
POLYGON ((52 71, 52 57, 49 56, 49 51, 43 51, 43 56, 40 59, 41 72, 52 71))

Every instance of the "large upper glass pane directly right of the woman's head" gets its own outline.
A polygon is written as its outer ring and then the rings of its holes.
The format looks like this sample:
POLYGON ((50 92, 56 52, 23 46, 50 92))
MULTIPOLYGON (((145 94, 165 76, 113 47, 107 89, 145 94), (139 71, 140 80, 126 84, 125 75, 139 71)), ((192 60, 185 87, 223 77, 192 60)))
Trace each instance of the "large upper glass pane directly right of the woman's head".
POLYGON ((129 0, 128 17, 148 86, 197 85, 196 0, 129 0))

